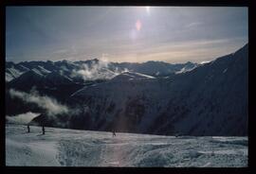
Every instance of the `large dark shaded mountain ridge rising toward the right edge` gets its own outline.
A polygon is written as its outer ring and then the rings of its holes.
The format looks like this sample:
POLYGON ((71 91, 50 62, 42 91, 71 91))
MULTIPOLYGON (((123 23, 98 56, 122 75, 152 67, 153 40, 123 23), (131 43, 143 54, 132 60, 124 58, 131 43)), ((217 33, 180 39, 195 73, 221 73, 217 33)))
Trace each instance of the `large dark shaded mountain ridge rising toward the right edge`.
POLYGON ((120 131, 156 134, 176 131, 193 135, 247 134, 247 45, 173 78, 136 82, 126 79, 117 84, 110 80, 84 88, 72 97, 76 96, 88 100, 84 104, 92 111, 100 110, 90 114, 98 120, 92 125, 102 130, 116 124, 120 131), (111 106, 114 112, 107 113, 111 106), (104 125, 105 117, 113 123, 104 125), (195 117, 199 118, 194 121, 195 117), (239 121, 225 123, 229 119, 239 121), (197 127, 200 121, 204 123, 197 127), (207 128, 210 124, 213 125, 207 128), (240 129, 233 130, 232 124, 240 129))

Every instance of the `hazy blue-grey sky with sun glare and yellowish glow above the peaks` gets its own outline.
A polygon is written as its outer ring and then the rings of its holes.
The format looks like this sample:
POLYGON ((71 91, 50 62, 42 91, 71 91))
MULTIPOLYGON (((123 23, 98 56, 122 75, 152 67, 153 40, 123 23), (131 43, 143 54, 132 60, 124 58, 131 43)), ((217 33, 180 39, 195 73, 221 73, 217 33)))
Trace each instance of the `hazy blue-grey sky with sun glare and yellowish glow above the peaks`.
POLYGON ((248 41, 246 7, 7 7, 6 61, 212 61, 248 41))

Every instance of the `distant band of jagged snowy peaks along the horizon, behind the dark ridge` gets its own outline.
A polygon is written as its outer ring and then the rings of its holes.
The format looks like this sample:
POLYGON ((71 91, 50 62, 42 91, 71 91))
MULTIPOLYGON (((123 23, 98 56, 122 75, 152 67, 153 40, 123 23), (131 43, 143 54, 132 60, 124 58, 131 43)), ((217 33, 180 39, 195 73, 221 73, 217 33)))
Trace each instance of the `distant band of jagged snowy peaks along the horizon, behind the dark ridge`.
MULTIPOLYGON (((92 79, 88 74, 90 71, 94 73, 97 70, 97 78, 105 78, 114 76, 123 71, 133 71, 149 76, 168 76, 181 71, 192 70, 197 63, 190 61, 186 63, 171 64, 163 61, 146 61, 137 62, 111 62, 101 61, 98 59, 88 61, 21 61, 14 63, 6 62, 6 81, 9 82, 14 78, 24 76, 24 74, 37 73, 39 75, 47 75, 51 73, 59 74, 64 78, 71 78, 73 81, 81 82, 81 79, 92 79), (82 73, 84 71, 84 73, 82 73), (87 71, 87 74, 86 74, 87 71), (99 76, 102 74, 104 76, 99 76), (87 75, 87 76, 86 76, 87 75)), ((27 75, 26 75, 27 76, 27 75)), ((30 75, 28 75, 30 76, 30 75)), ((93 78, 95 79, 95 78, 93 78)))

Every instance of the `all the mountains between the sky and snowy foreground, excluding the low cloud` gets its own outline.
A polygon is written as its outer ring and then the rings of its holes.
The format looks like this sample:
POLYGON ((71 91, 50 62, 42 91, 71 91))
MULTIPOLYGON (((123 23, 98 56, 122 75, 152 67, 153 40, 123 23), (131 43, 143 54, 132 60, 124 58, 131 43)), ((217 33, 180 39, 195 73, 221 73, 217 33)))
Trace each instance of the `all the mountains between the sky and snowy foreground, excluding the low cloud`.
POLYGON ((204 64, 6 62, 7 114, 41 113, 31 123, 82 130, 247 135, 247 46, 204 64), (78 112, 52 116, 9 95, 34 88, 78 112))

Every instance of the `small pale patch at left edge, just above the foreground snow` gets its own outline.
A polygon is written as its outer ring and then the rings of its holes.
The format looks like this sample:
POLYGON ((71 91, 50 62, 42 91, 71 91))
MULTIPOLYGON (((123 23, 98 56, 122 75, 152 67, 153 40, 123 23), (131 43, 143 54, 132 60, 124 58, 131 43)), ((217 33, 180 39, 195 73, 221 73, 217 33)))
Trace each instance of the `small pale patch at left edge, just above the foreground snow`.
POLYGON ((29 123, 33 118, 38 116, 40 113, 21 113, 13 116, 7 115, 6 119, 8 123, 13 124, 27 124, 29 123))

